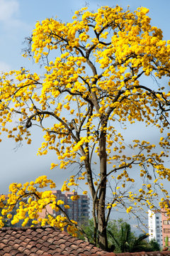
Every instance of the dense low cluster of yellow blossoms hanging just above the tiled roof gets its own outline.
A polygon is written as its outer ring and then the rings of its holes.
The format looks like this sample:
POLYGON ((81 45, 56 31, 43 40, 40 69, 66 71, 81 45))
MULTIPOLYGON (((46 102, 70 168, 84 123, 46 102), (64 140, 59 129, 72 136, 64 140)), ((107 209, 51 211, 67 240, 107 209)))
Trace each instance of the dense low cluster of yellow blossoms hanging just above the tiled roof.
POLYGON ((12 225, 18 223, 19 220, 23 220, 22 226, 25 226, 29 220, 32 220, 33 225, 41 224, 43 226, 48 224, 61 230, 67 227, 69 233, 76 236, 77 228, 75 225, 72 227, 73 224, 76 224, 74 221, 68 220, 67 217, 60 214, 54 217, 48 213, 47 206, 50 206, 56 212, 61 209, 64 212, 64 208, 69 209, 68 205, 64 205, 64 201, 57 201, 57 197, 52 191, 38 191, 38 188, 45 188, 49 185, 51 188, 55 187, 55 183, 47 179, 47 176, 40 176, 35 181, 24 183, 23 186, 21 183, 12 183, 9 187, 8 198, 1 196, 1 202, 3 202, 1 208, 3 209, 1 210, 0 227, 4 226, 4 217, 10 219, 12 225), (11 211, 17 203, 19 203, 19 206, 16 209, 16 214, 12 215, 11 211), (61 206, 64 208, 61 208, 61 206), (39 217, 42 210, 46 211, 46 218, 39 217))

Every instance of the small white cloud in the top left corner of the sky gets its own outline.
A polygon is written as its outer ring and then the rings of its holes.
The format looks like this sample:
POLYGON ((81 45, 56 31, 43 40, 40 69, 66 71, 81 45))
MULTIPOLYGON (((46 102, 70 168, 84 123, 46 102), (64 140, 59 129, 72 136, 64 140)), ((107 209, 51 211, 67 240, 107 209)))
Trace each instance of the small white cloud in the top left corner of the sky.
POLYGON ((9 21, 18 12, 19 4, 16 0, 0 0, 0 21, 9 21))

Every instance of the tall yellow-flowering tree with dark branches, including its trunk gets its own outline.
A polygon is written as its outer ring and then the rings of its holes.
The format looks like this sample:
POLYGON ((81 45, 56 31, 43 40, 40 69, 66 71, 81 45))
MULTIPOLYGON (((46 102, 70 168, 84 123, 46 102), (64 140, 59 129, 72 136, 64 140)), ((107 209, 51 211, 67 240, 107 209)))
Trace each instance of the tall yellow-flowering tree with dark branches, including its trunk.
MULTIPOLYGON (((1 75, 1 131, 30 144, 35 124, 44 132, 38 154, 57 154, 51 169, 77 166, 77 175, 64 182, 62 191, 77 188, 81 180, 89 186, 84 194, 90 193, 92 200, 94 240, 98 236, 98 245, 106 249, 111 210, 122 207, 136 214, 144 204, 153 208, 157 187, 164 193, 162 207, 169 199, 162 179, 170 180, 164 165, 170 146, 170 92, 168 85, 164 90, 141 78, 169 78, 170 41, 151 26, 148 12, 144 7, 130 12, 103 6, 96 12, 76 11, 70 23, 38 21, 24 56, 33 56, 42 73, 21 68, 1 75), (159 130, 160 151, 139 138, 130 145, 125 142, 121 127, 128 129, 135 122, 159 130), (132 191, 137 174, 141 187, 132 191)), ((11 218, 10 210, 20 201, 11 222, 23 220, 26 225, 30 219, 36 224, 38 212, 48 204, 64 209, 50 191, 39 192, 47 183, 55 186, 47 177, 23 186, 11 184, 8 202, 1 198, 3 214, 11 218)), ((71 233, 78 227, 67 215, 38 221, 59 228, 69 225, 71 233)))

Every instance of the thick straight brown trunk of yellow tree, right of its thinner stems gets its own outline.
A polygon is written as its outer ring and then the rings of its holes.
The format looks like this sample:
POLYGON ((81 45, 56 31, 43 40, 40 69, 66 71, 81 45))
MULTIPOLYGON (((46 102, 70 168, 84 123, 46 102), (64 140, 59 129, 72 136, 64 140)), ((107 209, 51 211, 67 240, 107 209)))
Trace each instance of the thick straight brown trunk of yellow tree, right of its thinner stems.
POLYGON ((99 157, 100 157, 101 186, 98 194, 98 245, 102 249, 108 250, 108 240, 107 240, 107 233, 106 233, 106 216, 105 216, 107 154, 106 154, 106 133, 103 131, 101 131, 101 137, 100 137, 99 157))

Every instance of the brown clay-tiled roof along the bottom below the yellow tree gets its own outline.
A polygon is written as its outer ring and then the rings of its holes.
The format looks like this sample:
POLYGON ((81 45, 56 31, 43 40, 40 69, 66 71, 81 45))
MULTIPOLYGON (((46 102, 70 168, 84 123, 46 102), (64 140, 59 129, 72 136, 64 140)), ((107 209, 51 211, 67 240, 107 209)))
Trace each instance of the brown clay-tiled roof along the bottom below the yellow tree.
POLYGON ((164 252, 106 252, 52 227, 2 228, 0 256, 170 256, 164 252))

